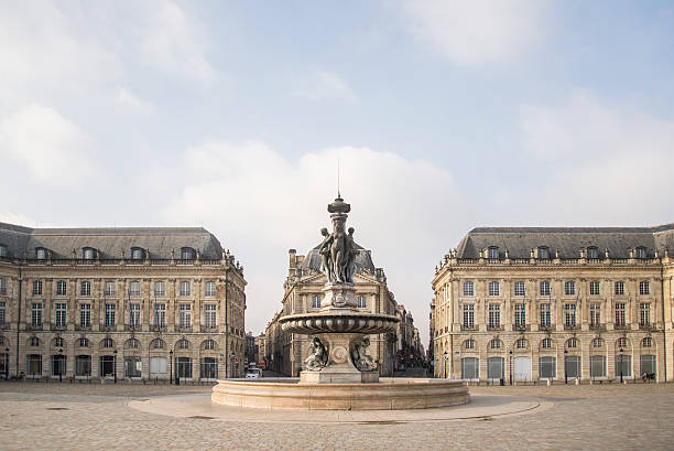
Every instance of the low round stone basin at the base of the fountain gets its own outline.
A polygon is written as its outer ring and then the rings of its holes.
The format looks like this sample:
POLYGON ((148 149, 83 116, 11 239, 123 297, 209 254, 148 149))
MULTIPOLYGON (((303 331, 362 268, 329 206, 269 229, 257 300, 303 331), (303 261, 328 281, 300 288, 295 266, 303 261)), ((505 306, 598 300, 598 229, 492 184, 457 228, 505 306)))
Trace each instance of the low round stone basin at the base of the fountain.
POLYGON ((470 401, 460 380, 382 377, 370 384, 298 384, 297 379, 218 380, 215 404, 301 410, 402 410, 464 405, 470 401))

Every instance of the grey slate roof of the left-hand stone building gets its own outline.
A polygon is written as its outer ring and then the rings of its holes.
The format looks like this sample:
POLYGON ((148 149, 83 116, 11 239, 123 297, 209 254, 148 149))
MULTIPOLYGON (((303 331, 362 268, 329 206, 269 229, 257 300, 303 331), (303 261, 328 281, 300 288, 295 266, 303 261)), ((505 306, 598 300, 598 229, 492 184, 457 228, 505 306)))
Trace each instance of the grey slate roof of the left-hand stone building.
POLYGON ((81 258, 83 248, 93 247, 100 258, 131 257, 131 248, 150 250, 151 258, 181 258, 182 247, 192 247, 202 259, 221 258, 220 241, 203 227, 95 227, 95 228, 29 228, 0 223, 0 245, 8 256, 34 258, 35 248, 52 251, 52 258, 72 258, 73 249, 81 258))

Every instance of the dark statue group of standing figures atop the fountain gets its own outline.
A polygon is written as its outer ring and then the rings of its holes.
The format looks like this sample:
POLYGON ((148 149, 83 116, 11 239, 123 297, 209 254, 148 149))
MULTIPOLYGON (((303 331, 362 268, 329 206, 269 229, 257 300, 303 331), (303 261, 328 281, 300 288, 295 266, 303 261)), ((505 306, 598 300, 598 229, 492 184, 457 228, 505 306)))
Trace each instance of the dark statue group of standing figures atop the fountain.
POLYGON ((344 221, 334 222, 335 232, 328 233, 322 228, 323 243, 320 244, 320 260, 323 271, 330 283, 354 283, 355 265, 354 259, 358 249, 354 241, 354 227, 349 227, 348 234, 344 232, 344 221))

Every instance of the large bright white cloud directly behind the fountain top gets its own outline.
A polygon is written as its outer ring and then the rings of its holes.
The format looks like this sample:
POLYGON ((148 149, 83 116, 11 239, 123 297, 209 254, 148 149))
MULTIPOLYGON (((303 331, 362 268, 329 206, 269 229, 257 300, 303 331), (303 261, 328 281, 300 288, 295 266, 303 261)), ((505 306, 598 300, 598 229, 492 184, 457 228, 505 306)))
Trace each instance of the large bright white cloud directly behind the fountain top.
POLYGON ((210 142, 185 152, 181 179, 187 182, 160 216, 171 224, 203 223, 237 253, 250 283, 247 327, 261 331, 281 305, 287 249, 306 254, 319 243, 320 227, 329 226, 337 159, 357 241, 372 250, 389 289, 426 331, 433 266, 447 246, 437 236, 463 210, 444 169, 368 148, 330 148, 289 161, 261 142, 210 142))

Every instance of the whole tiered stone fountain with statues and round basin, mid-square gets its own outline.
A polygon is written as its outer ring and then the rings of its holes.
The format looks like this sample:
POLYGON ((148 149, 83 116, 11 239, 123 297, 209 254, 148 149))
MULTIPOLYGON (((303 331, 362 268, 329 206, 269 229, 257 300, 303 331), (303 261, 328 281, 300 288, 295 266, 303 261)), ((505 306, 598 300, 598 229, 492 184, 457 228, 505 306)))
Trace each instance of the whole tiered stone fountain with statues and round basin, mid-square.
POLYGON ((296 378, 218 380, 211 400, 240 407, 370 410, 461 405, 469 401, 458 380, 381 378, 367 354, 368 335, 393 332, 395 315, 369 313, 356 307, 354 228, 346 230, 351 207, 338 194, 328 204, 333 233, 322 229, 322 270, 327 277, 320 309, 280 319, 289 333, 313 335, 312 353, 296 378))

